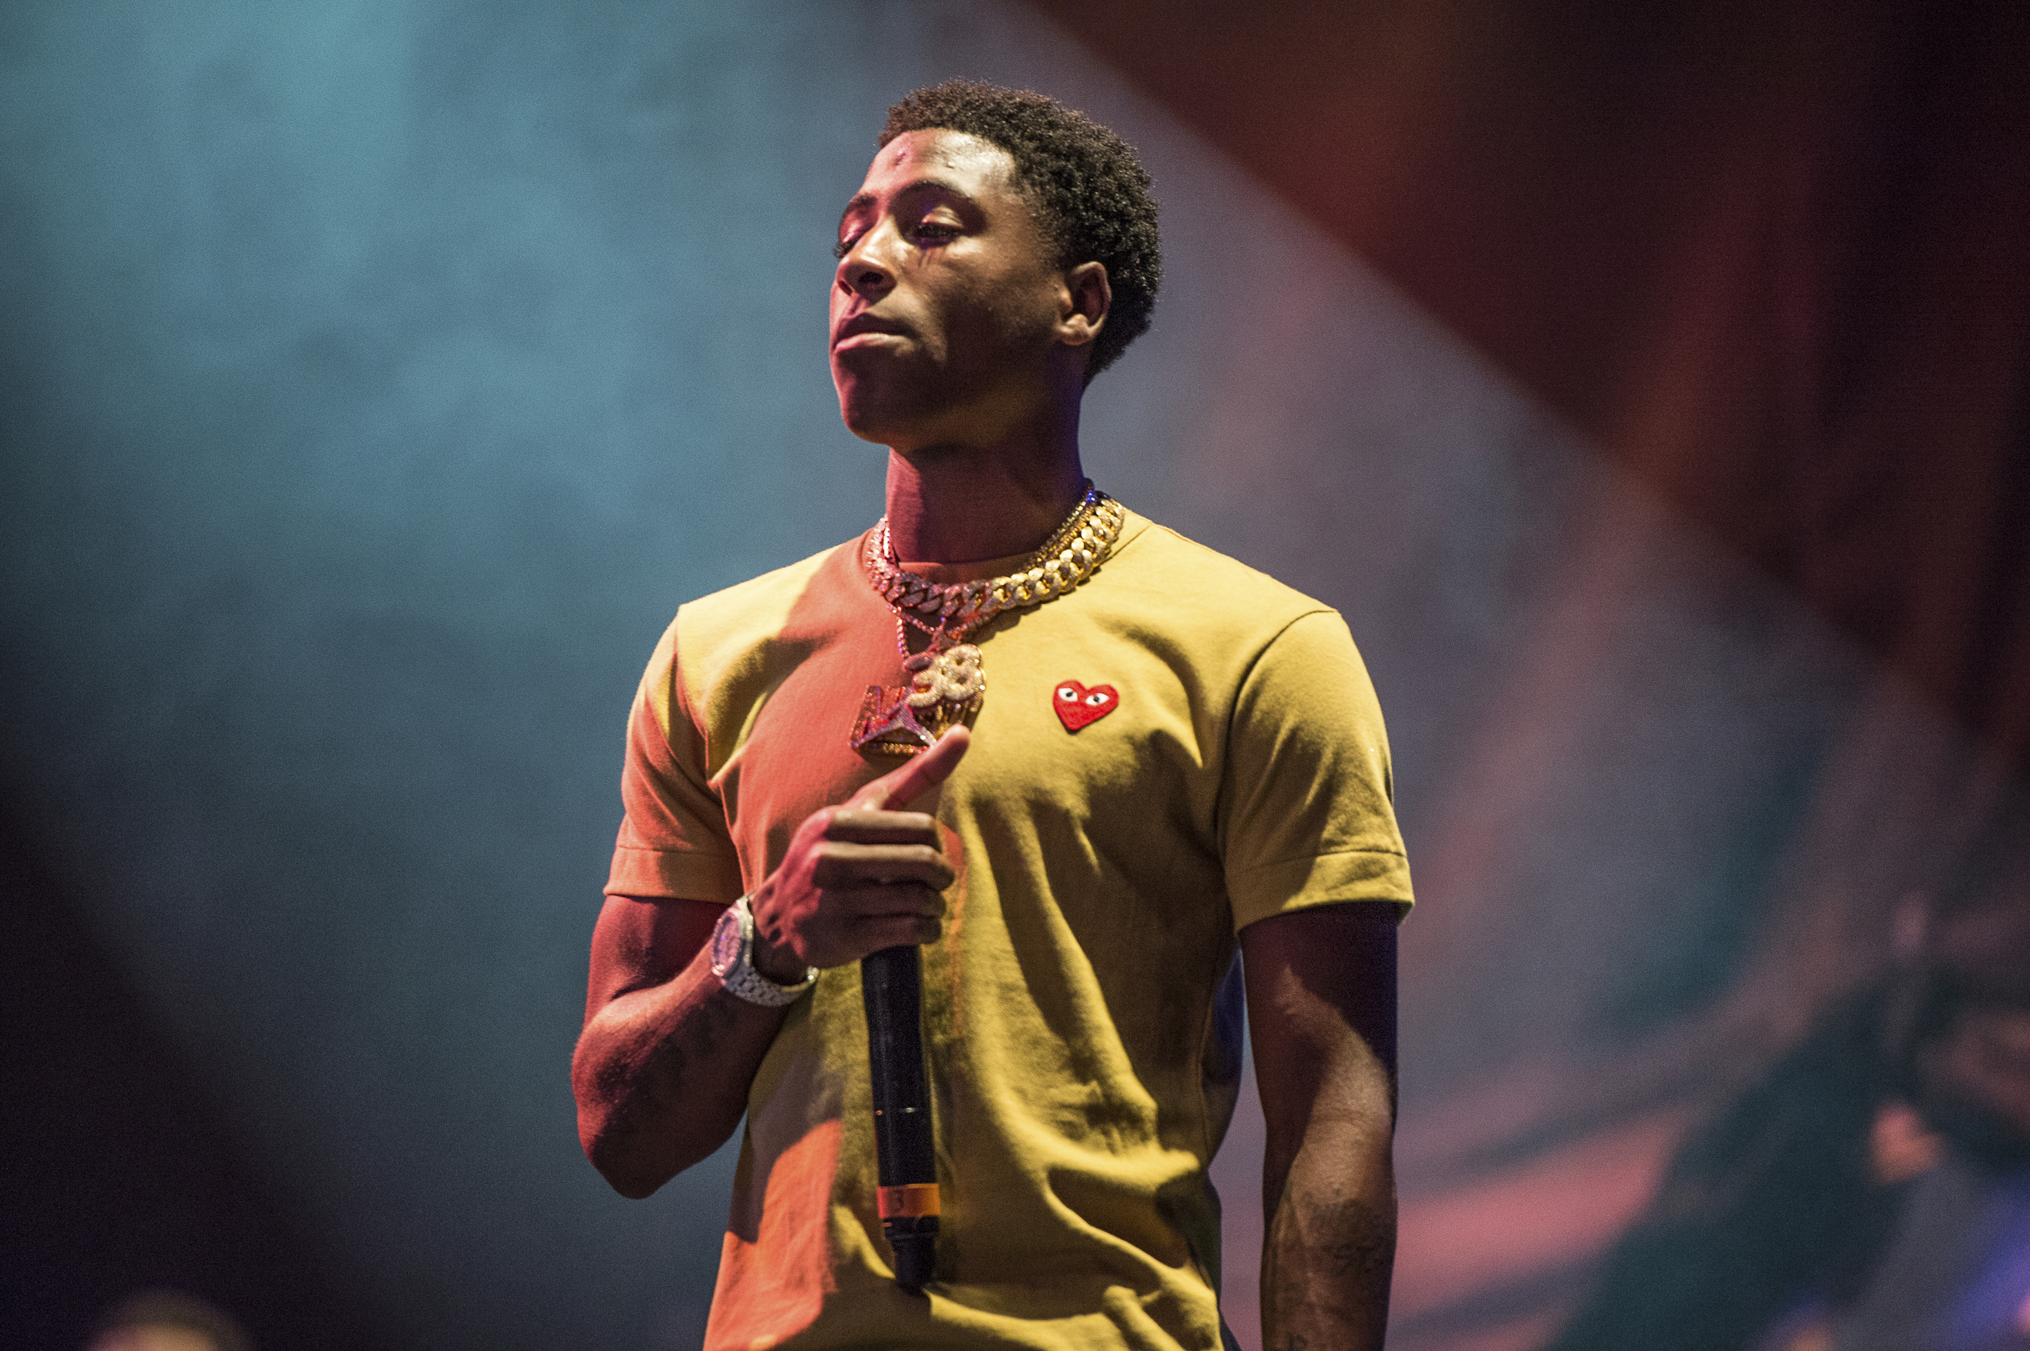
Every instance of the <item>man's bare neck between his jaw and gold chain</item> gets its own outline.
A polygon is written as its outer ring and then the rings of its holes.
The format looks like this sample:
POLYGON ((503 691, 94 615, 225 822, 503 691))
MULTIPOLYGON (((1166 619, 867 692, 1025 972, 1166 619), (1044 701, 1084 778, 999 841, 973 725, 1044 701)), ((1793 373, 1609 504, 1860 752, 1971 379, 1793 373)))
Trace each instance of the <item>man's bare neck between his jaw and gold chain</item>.
POLYGON ((889 540, 905 562, 1027 554, 1050 540, 1084 491, 1076 404, 1070 426, 1043 436, 889 448, 889 540))

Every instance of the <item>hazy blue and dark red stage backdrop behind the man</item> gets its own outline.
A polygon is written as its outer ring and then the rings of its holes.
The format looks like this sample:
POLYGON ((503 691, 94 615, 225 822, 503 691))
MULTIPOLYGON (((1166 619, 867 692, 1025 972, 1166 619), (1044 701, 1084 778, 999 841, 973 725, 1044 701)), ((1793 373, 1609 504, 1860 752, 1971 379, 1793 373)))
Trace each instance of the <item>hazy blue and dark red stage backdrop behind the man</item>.
POLYGON ((621 718, 680 600, 879 513, 826 243, 952 73, 1157 174, 1088 467, 1354 625, 1421 899, 1395 1345, 1541 1339, 2022 811, 2026 24, 8 4, 0 1339, 175 1284, 262 1347, 696 1343, 725 1156, 625 1203, 572 1138, 621 718))

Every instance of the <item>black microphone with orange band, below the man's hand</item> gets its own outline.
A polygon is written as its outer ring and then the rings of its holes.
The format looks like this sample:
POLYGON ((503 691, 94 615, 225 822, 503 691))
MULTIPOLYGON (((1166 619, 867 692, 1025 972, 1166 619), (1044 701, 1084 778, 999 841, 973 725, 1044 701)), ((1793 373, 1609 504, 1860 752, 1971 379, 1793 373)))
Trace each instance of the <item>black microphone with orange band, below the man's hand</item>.
POLYGON ((875 1191, 895 1250, 895 1284, 916 1294, 938 1262, 938 1158, 924 1075, 924 966, 916 947, 861 959, 867 1000, 867 1069, 875 1097, 875 1191))

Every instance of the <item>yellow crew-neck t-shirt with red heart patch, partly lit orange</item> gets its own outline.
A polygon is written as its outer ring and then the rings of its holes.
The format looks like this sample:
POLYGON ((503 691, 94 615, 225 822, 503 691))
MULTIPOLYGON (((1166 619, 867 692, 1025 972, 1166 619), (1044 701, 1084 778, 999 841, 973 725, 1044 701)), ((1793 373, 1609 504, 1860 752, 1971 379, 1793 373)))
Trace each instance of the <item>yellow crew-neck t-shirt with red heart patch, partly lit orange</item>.
MULTIPOLYGON (((899 765, 849 746, 867 686, 909 680, 859 550, 678 611, 633 708, 609 893, 731 903, 806 815, 899 765)), ((859 968, 832 968, 747 1097, 710 1351, 1216 1349, 1234 933, 1411 899, 1380 708, 1334 611, 1131 513, 1084 586, 970 641, 987 694, 938 795, 958 880, 924 949, 936 1280, 889 1274, 859 968), (1104 712, 1074 730, 1058 700, 1104 712)))

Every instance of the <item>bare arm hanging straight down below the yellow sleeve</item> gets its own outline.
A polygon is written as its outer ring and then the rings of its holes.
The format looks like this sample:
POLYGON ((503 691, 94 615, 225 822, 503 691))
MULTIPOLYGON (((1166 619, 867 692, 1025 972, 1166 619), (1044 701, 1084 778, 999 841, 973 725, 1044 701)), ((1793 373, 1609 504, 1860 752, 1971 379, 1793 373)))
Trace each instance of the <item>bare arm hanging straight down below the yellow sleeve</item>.
POLYGON ((1263 1158, 1265 1351, 1378 1351, 1395 1264, 1395 907, 1240 931, 1263 1158))

